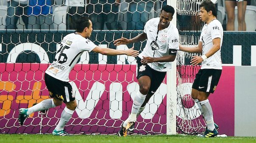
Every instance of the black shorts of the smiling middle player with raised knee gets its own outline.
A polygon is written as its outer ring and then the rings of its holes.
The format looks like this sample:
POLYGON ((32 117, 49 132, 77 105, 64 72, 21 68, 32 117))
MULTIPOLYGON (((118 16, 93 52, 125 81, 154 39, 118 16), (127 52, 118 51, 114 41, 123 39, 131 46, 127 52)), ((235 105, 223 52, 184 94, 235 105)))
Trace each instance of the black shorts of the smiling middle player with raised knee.
POLYGON ((143 65, 141 63, 141 58, 137 57, 137 79, 141 76, 149 76, 151 79, 151 86, 149 89, 149 94, 154 94, 155 91, 159 88, 163 79, 165 78, 166 72, 160 72, 157 70, 153 70, 149 65, 143 65))

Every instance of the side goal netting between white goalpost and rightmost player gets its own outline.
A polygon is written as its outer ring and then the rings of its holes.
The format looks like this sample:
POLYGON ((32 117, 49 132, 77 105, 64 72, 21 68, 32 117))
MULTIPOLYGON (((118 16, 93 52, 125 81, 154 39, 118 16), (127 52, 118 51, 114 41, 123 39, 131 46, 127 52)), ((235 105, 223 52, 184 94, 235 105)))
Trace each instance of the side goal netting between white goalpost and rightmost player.
MULTIPOLYGON (((200 2, 203 0, 177 0, 177 28, 180 44, 196 46, 200 37, 202 22, 198 18, 200 2)), ((192 84, 200 65, 192 66, 190 59, 197 53, 178 51, 177 54, 177 132, 185 134, 202 133, 205 121, 191 97, 192 84)))

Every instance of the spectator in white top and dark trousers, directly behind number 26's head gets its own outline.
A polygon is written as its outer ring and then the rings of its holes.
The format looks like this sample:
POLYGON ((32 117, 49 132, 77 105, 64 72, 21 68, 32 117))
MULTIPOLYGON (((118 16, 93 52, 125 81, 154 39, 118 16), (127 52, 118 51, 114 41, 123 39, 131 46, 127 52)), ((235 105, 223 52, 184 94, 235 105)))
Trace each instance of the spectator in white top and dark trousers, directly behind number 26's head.
POLYGON ((66 16, 67 30, 76 29, 76 20, 80 16, 85 16, 85 0, 65 0, 65 5, 68 6, 66 16))

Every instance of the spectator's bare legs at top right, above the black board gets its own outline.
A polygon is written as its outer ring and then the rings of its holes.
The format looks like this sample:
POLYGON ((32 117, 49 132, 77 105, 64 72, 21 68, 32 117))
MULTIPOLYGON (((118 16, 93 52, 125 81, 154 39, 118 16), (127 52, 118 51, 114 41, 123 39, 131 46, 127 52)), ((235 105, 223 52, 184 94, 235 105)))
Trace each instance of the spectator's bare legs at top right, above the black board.
POLYGON ((228 15, 227 31, 235 30, 235 6, 237 5, 238 31, 246 31, 245 10, 249 0, 225 0, 225 7, 228 15))

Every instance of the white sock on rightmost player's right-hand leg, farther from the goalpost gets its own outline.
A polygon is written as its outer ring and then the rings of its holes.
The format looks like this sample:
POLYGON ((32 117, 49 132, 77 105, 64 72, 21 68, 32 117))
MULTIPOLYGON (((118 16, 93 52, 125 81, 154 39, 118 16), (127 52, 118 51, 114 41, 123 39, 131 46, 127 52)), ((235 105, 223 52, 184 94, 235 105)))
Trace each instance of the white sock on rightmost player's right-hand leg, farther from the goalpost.
POLYGON ((211 104, 209 103, 208 99, 200 101, 200 104, 202 106, 203 116, 205 118, 207 128, 208 130, 213 131, 215 129, 215 126, 214 126, 214 119, 213 119, 211 104))

